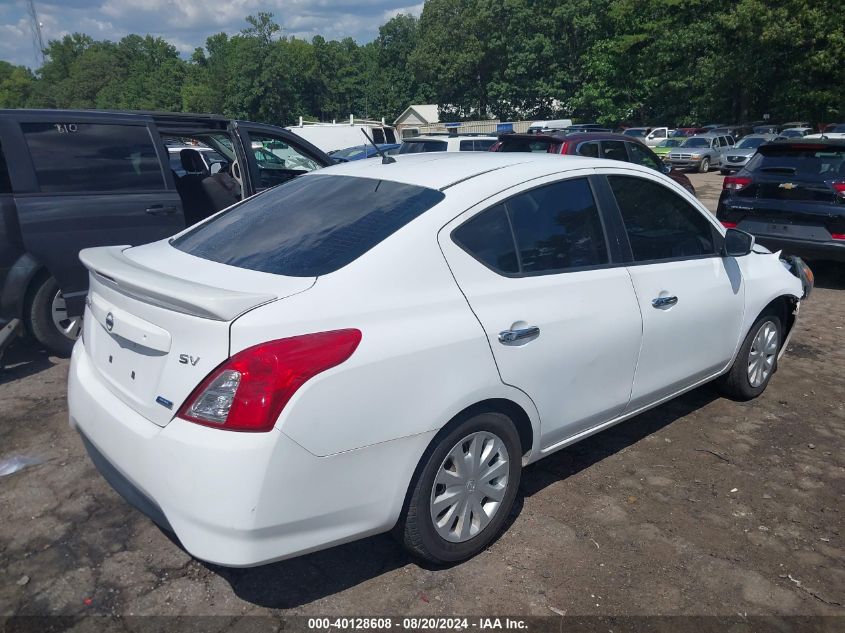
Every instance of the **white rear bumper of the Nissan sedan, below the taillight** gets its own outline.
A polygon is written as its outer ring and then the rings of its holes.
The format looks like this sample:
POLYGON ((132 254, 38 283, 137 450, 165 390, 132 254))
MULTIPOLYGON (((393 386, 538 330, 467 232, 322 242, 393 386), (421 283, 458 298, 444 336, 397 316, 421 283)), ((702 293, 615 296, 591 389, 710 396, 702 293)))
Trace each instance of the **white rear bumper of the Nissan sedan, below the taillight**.
POLYGON ((70 424, 98 470, 193 556, 248 567, 389 530, 425 433, 316 457, 279 430, 235 433, 180 419, 159 427, 114 396, 82 341, 70 424))

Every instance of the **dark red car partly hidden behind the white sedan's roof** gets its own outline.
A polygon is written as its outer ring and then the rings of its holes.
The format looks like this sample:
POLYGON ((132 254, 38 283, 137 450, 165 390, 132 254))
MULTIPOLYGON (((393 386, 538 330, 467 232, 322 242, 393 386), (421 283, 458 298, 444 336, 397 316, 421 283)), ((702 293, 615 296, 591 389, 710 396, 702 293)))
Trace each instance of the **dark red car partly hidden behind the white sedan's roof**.
POLYGON ((593 158, 623 160, 651 167, 666 174, 695 195, 687 175, 670 169, 657 154, 633 136, 611 132, 581 132, 575 134, 502 134, 490 147, 491 152, 545 152, 548 154, 577 154, 593 158))

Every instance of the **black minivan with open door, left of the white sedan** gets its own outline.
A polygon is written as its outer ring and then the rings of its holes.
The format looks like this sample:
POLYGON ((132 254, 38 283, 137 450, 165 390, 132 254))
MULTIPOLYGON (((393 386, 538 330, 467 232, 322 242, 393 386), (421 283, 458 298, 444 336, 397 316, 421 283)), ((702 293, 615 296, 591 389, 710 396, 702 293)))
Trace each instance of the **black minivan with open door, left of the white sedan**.
POLYGON ((217 115, 0 110, 0 355, 24 330, 70 353, 81 249, 173 235, 330 164, 287 130, 217 115))

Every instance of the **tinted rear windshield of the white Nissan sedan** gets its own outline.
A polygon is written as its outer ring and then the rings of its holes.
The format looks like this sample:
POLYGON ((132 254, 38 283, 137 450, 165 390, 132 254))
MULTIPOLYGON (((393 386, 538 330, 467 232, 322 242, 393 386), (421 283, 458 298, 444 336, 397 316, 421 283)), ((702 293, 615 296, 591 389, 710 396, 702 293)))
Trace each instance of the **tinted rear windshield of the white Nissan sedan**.
POLYGON ((238 268, 316 277, 356 260, 444 197, 389 180, 305 176, 232 207, 171 244, 238 268))

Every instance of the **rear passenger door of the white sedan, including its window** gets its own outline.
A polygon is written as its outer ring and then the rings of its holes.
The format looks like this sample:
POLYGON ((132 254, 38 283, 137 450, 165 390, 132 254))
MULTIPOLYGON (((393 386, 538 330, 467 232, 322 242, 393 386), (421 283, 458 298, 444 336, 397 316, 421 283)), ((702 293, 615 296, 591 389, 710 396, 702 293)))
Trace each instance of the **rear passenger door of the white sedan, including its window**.
POLYGON ((592 173, 531 181, 439 234, 502 380, 537 406, 543 449, 624 410, 640 348, 637 298, 617 242, 608 245, 592 173))

